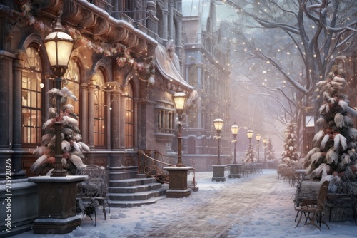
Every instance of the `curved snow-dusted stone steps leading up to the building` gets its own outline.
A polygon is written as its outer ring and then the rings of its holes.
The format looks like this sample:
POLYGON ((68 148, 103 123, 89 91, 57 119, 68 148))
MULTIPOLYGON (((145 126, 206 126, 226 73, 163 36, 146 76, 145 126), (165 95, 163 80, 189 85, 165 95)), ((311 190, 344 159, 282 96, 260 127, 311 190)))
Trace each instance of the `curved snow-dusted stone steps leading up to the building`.
POLYGON ((156 182, 155 178, 132 178, 109 182, 109 206, 135 207, 149 205, 166 198, 168 185, 156 182))

